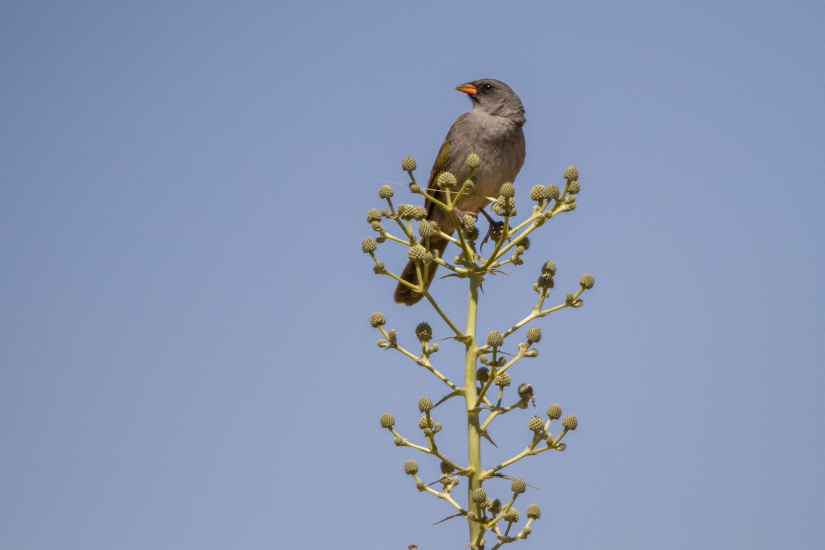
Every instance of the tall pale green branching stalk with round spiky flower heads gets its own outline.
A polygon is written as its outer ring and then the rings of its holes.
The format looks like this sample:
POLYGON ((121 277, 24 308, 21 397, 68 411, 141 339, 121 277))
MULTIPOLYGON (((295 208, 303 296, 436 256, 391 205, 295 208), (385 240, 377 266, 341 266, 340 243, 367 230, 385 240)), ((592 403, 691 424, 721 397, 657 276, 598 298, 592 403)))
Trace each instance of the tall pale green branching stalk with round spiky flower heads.
POLYGON ((563 451, 566 444, 562 442, 569 431, 576 430, 578 421, 576 416, 568 415, 562 418, 562 407, 559 404, 550 405, 544 416, 533 416, 527 421, 530 435, 527 436, 526 449, 513 454, 511 458, 485 468, 482 463, 481 440, 490 439, 488 428, 498 417, 513 411, 526 409, 530 402, 535 407, 535 397, 530 384, 521 384, 516 388, 516 395, 506 400, 506 390, 511 386, 510 371, 521 360, 535 358, 539 355, 536 345, 541 341, 541 329, 532 326, 525 332, 526 341, 513 342, 516 332, 526 325, 546 317, 550 313, 565 308, 579 308, 582 306, 582 294, 593 288, 593 275, 587 273, 579 279, 579 288, 567 294, 562 303, 547 306, 551 289, 555 286, 556 265, 553 261, 546 261, 541 267, 540 275, 533 284, 538 294, 535 306, 520 321, 513 323, 503 331, 491 331, 479 342, 476 322, 479 313, 479 289, 484 276, 497 273, 503 266, 521 266, 524 263, 522 256, 530 248, 530 233, 544 226, 544 223, 554 219, 559 214, 572 212, 576 209, 576 195, 581 190, 578 181, 578 169, 568 167, 564 171, 566 181, 563 189, 555 184, 549 186, 533 186, 530 189, 530 200, 535 204, 530 216, 518 222, 516 216, 516 190, 511 182, 504 183, 499 190, 498 197, 488 197, 492 202, 494 214, 501 217, 500 221, 490 223, 490 230, 483 238, 490 240, 493 250, 488 256, 482 256, 479 244, 480 232, 474 216, 456 209, 462 195, 473 192, 473 174, 483 159, 471 154, 467 157, 467 166, 470 170, 469 179, 458 186, 455 176, 449 172, 442 172, 436 180, 437 189, 427 189, 420 186, 413 174, 416 162, 413 157, 406 157, 401 164, 404 172, 410 176, 409 189, 413 194, 422 195, 436 208, 443 209, 450 216, 455 234, 443 233, 435 222, 427 220, 427 210, 413 204, 398 204, 393 202, 394 190, 391 186, 381 186, 379 197, 386 201, 384 209, 370 209, 367 213, 367 222, 370 223, 377 237, 367 237, 362 242, 362 250, 369 254, 375 262, 374 271, 378 275, 385 275, 405 284, 408 288, 423 294, 430 303, 441 322, 446 325, 450 336, 464 346, 464 378, 453 380, 448 372, 454 369, 437 368, 433 355, 439 349, 437 343, 432 343, 433 330, 429 323, 422 322, 415 327, 415 336, 420 346, 404 347, 399 342, 398 333, 387 330, 386 317, 382 313, 373 313, 370 325, 380 331, 382 338, 378 346, 384 350, 395 350, 405 355, 413 363, 427 369, 447 388, 445 397, 433 402, 430 397, 422 397, 418 401, 418 410, 422 417, 418 421, 421 435, 414 443, 395 427, 394 416, 385 412, 381 415, 380 425, 394 437, 398 447, 415 449, 428 454, 441 462, 441 477, 438 482, 428 485, 418 476, 419 465, 415 460, 408 460, 404 464, 404 472, 412 476, 418 491, 427 492, 446 501, 455 509, 450 518, 464 518, 469 525, 469 546, 474 550, 493 550, 504 544, 513 543, 520 538, 527 538, 532 530, 532 524, 541 516, 539 505, 530 504, 526 509, 527 520, 518 527, 521 515, 516 510, 516 500, 531 487, 521 477, 512 477, 506 472, 513 464, 521 459, 541 454, 550 450, 563 451), (384 227, 388 223, 394 233, 384 227), (452 261, 439 257, 437 251, 431 250, 432 237, 439 237, 454 243, 459 248, 459 254, 452 261), (394 272, 384 266, 377 252, 380 245, 386 242, 408 247, 408 258, 415 262, 417 282, 409 283, 402 280, 394 272), (463 328, 460 323, 445 312, 436 302, 429 289, 427 281, 429 270, 436 264, 441 269, 449 270, 449 275, 464 279, 468 285, 468 299, 466 318, 463 328), (414 349, 416 348, 417 349, 414 349), (464 398, 465 422, 467 426, 467 449, 465 461, 447 456, 438 447, 439 432, 442 425, 433 418, 433 411, 453 398, 464 398), (554 428, 559 425, 558 430, 554 428), (558 435, 550 432, 553 428, 558 435), (467 480, 465 496, 458 496, 455 491, 461 477, 467 480), (509 493, 502 496, 488 495, 483 487, 484 482, 494 478, 511 480, 509 493), (431 486, 440 486, 434 489, 431 486), (490 546, 492 544, 492 546, 490 546))

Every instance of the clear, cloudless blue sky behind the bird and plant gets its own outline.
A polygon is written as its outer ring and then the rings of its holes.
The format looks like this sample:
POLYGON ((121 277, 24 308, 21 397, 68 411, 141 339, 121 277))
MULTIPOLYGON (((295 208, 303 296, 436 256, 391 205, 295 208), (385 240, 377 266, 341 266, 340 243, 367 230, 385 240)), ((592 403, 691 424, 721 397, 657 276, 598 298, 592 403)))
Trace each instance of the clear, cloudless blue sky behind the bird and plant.
POLYGON ((512 548, 825 548, 825 3, 286 3, 0 7, 2 547, 465 548, 378 425, 442 389, 370 313, 436 319, 360 248, 490 77, 517 196, 582 193, 481 330, 546 260, 596 275, 514 373, 580 425, 512 470, 544 510, 512 548))

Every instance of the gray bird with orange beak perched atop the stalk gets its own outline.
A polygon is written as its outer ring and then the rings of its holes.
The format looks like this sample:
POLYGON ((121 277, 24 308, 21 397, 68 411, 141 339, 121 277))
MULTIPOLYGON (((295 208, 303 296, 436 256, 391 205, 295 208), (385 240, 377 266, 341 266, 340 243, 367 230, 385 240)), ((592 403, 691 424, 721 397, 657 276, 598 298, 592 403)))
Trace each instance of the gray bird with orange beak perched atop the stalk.
MULTIPOLYGON (((461 115, 453 123, 441 149, 432 165, 427 189, 440 197, 443 191, 434 191, 435 181, 441 172, 451 172, 461 185, 469 176, 465 162, 467 155, 476 153, 481 157, 481 166, 475 171, 475 186, 470 193, 465 193, 457 206, 463 212, 478 214, 490 202, 488 196, 497 196, 502 183, 514 181, 524 164, 525 144, 521 126, 527 121, 524 106, 516 92, 500 80, 482 78, 467 82, 455 88, 469 95, 473 101, 473 110, 461 115)), ((450 216, 435 204, 427 201, 427 219, 438 223, 444 233, 455 231, 450 216)), ((448 241, 431 239, 433 253, 444 253, 448 241)), ((427 288, 436 275, 436 264, 429 268, 427 288)), ((415 262, 408 262, 401 274, 403 280, 417 284, 415 262)), ((403 284, 395 288, 394 299, 397 303, 411 306, 418 303, 423 294, 408 289, 403 284)))

